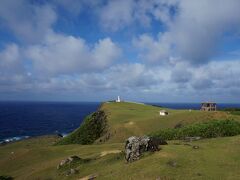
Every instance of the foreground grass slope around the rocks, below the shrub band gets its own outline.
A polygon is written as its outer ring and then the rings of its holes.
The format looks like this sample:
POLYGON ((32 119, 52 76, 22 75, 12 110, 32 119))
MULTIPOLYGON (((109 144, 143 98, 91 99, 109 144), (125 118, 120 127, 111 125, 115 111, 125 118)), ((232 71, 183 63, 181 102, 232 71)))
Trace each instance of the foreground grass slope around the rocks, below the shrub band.
POLYGON ((33 139, 1 147, 0 173, 16 179, 77 179, 97 174, 98 179, 239 179, 240 178, 240 136, 205 139, 194 142, 200 146, 169 145, 162 150, 147 154, 139 161, 125 163, 123 156, 101 152, 122 150, 122 143, 102 145, 52 146, 53 138, 33 139), (11 154, 11 152, 14 154, 11 154), (80 166, 80 173, 71 177, 58 175, 57 164, 70 155, 96 160, 80 166), (120 159, 118 159, 120 157, 120 159), (175 161, 176 167, 167 164, 175 161))

